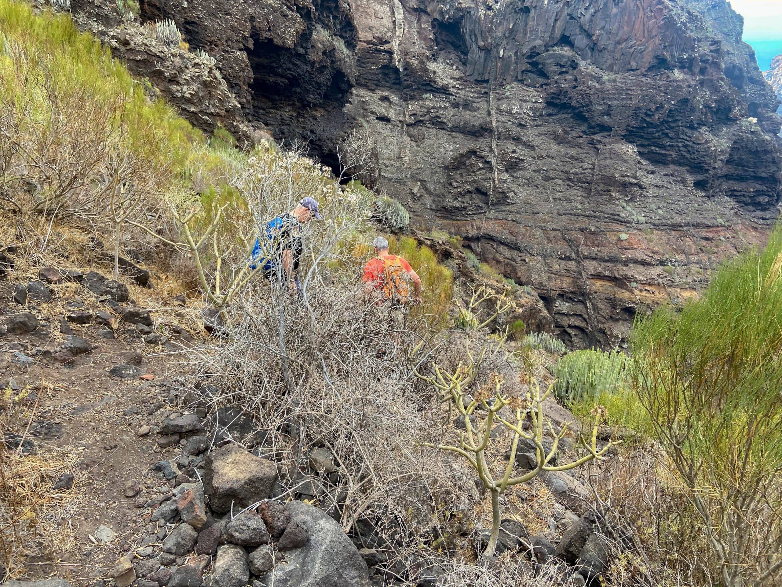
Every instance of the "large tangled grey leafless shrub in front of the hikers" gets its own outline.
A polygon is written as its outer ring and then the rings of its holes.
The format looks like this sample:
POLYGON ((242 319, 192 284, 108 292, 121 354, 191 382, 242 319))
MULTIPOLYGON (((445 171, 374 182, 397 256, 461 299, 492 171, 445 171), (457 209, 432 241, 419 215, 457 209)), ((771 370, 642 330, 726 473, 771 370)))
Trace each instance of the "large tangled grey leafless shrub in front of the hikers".
POLYGON ((329 448, 339 481, 320 480, 321 502, 339 508, 346 529, 369 520, 380 546, 404 546, 435 538, 432 512, 464 510, 475 485, 454 459, 421 448, 440 411, 407 360, 415 335, 396 331, 355 285, 324 276, 296 299, 257 283, 225 312, 226 336, 188 359, 221 388, 209 401, 242 405, 267 431, 285 484, 300 482, 310 448, 329 448))

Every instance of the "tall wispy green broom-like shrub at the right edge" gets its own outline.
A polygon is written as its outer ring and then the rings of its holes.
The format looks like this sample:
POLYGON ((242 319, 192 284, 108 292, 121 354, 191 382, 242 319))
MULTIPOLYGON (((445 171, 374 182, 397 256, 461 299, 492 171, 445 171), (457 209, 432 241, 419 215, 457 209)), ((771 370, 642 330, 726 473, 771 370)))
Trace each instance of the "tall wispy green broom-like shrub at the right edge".
POLYGON ((777 225, 765 250, 724 263, 700 299, 639 313, 633 326, 633 389, 698 512, 720 585, 773 585, 782 564, 780 323, 777 225))

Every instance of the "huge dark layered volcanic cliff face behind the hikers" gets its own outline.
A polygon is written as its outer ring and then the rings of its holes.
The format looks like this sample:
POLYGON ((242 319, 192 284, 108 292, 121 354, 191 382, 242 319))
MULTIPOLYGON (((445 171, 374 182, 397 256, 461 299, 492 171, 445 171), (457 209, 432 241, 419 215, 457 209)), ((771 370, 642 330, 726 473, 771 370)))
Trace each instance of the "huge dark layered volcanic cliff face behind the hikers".
POLYGON ((779 100, 725 0, 140 5, 276 139, 335 164, 366 129, 382 189, 535 287, 573 347, 621 344, 779 211, 779 100))

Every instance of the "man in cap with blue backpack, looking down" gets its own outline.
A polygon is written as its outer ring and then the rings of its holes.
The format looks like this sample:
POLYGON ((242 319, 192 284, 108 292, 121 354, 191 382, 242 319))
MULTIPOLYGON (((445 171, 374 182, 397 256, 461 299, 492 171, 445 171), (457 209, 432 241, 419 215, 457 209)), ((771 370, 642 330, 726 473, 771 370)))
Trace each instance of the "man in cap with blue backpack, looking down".
POLYGON ((250 254, 249 268, 258 268, 268 279, 279 279, 287 283, 294 294, 300 290, 296 272, 303 252, 303 225, 317 218, 321 220, 318 204, 314 198, 304 198, 288 214, 273 218, 264 225, 263 233, 255 239, 250 254))

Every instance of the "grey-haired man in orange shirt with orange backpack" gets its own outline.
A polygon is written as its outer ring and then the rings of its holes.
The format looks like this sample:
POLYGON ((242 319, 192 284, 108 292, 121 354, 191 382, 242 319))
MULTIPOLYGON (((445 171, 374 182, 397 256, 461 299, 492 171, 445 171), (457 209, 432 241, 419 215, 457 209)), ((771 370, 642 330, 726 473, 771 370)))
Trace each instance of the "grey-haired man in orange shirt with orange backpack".
POLYGON ((389 242, 378 236, 372 243, 375 257, 364 267, 364 294, 375 297, 378 305, 385 305, 396 326, 404 322, 404 308, 410 300, 413 283, 413 303, 421 303, 421 278, 410 263, 399 255, 389 254, 389 242))

